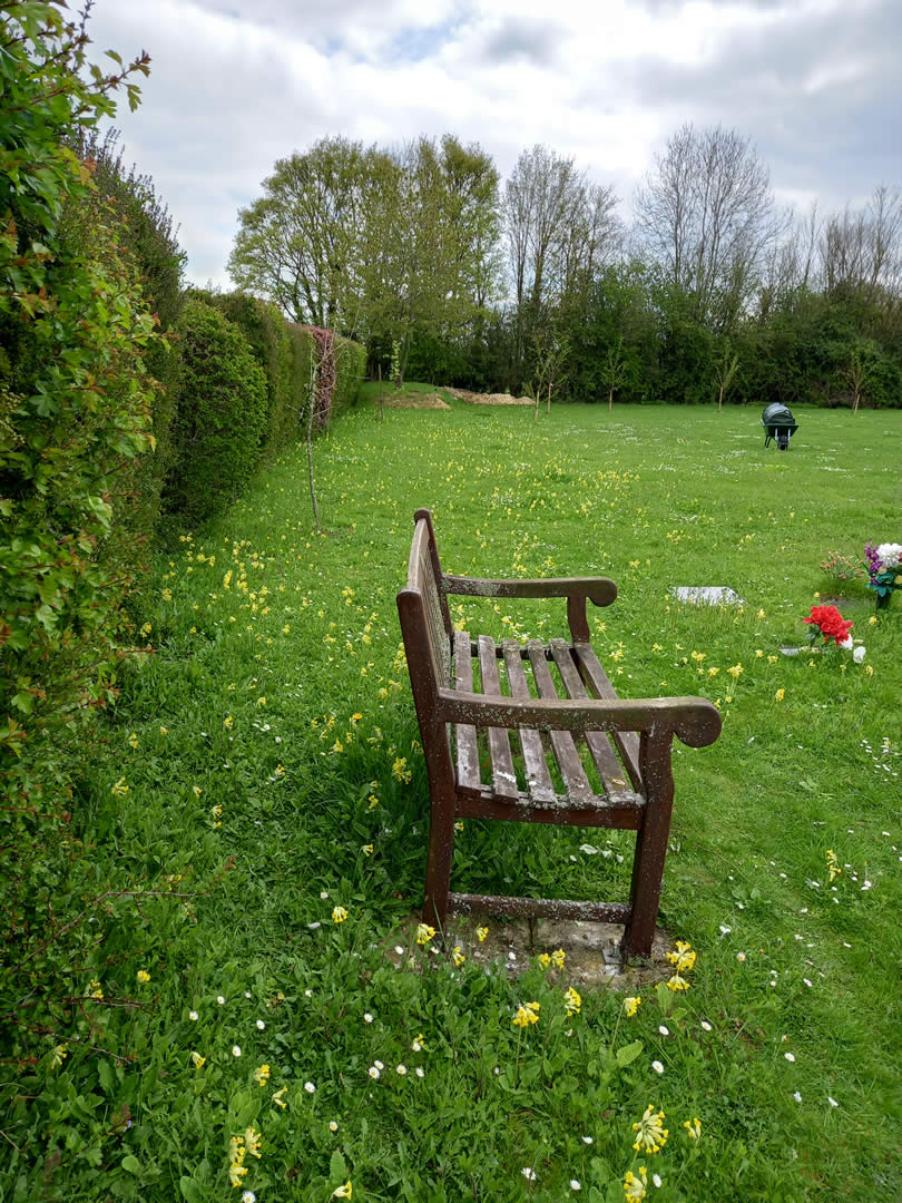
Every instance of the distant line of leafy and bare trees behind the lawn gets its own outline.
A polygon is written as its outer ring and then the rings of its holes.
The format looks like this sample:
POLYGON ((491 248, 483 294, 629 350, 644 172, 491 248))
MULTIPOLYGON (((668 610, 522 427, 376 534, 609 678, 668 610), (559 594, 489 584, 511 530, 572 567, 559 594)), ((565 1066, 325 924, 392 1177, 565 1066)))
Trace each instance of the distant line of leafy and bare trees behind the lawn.
POLYGON ((687 124, 637 189, 535 146, 322 138, 239 213, 229 268, 369 368, 557 398, 902 404, 902 195, 782 211, 750 142, 687 124), (553 365, 553 371, 550 369, 553 365), (550 374, 551 373, 551 374, 550 374))

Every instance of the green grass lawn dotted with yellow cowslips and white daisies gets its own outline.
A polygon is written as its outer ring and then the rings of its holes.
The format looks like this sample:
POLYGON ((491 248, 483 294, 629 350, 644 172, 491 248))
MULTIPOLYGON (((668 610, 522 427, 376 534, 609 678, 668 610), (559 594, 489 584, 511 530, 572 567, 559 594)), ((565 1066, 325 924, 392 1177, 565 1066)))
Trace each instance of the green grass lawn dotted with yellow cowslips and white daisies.
MULTIPOLYGON (((451 405, 340 417, 322 533, 298 449, 159 557, 153 652, 73 804, 67 1001, 0 1094, 2 1197, 607 1203, 645 1167, 661 1203, 901 1198, 902 599, 871 623, 873 594, 818 565, 902 541, 902 413, 800 411, 783 454, 747 409, 451 405), (713 747, 676 745, 660 924, 698 952, 686 994, 568 1015, 566 966, 516 980, 407 936, 386 958, 428 823, 394 609, 420 505, 449 571, 612 576, 591 621, 621 695, 722 709, 713 747), (837 594, 864 663, 781 654, 837 594), (669 1137, 636 1152, 649 1104, 669 1137)), ((559 602, 455 618, 565 634, 559 602)), ((456 887, 625 897, 629 836, 622 863, 587 838, 468 823, 456 887)))

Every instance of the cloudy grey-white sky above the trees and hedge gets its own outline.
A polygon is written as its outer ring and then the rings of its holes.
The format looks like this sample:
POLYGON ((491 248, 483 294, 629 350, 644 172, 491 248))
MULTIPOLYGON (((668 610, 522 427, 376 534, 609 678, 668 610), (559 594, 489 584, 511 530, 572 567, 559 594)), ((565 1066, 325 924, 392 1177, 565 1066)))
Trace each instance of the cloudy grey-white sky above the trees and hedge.
POLYGON ((274 161, 326 135, 450 131, 503 176, 542 142, 625 219, 688 120, 750 138, 802 209, 902 185, 902 0, 96 0, 88 30, 97 58, 152 57, 117 125, 201 284, 229 285, 274 161))

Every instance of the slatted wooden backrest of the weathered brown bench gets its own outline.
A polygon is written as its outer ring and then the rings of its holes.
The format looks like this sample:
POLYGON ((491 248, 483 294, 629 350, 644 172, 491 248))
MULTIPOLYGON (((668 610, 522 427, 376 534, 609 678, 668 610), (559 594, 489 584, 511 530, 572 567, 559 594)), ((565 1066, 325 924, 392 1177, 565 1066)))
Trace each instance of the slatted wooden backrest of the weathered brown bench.
POLYGON ((441 583, 441 564, 435 549, 432 517, 428 510, 417 510, 415 518, 416 529, 410 547, 408 583, 404 591, 404 594, 408 595, 407 605, 413 612, 405 614, 405 609, 402 606, 403 594, 398 597, 408 664, 413 657, 420 659, 426 654, 435 683, 450 686, 451 614, 441 583), (417 618, 419 621, 411 621, 417 618), (420 642, 425 642, 426 646, 415 646, 420 642))

